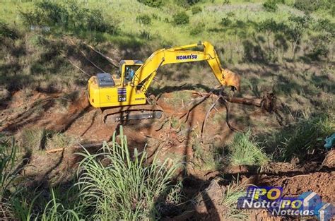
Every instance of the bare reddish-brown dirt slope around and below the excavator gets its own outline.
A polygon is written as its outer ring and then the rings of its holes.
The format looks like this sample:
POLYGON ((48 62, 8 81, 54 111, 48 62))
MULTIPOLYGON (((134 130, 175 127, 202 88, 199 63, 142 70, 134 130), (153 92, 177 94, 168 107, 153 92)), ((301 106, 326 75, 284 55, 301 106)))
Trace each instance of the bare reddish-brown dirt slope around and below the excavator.
MULTIPOLYGON (((151 155, 158 153, 162 159, 183 160, 190 162, 186 171, 181 174, 187 175, 185 181, 185 192, 189 196, 194 196, 204 191, 211 190, 211 181, 225 174, 225 179, 218 183, 218 186, 225 188, 226 185, 236 179, 237 174, 242 181, 258 186, 283 186, 286 196, 297 196, 305 191, 315 191, 322 200, 329 203, 335 202, 334 188, 329 185, 334 184, 334 151, 329 153, 326 160, 319 157, 319 161, 302 162, 300 165, 291 163, 271 163, 267 168, 259 173, 259 170, 249 167, 226 167, 209 170, 206 168, 194 167, 192 157, 194 156, 192 145, 194 141, 201 137, 201 126, 206 112, 213 100, 209 99, 191 112, 188 112, 192 105, 192 99, 196 95, 190 95, 188 101, 180 104, 168 102, 173 98, 172 93, 163 94, 158 100, 158 104, 165 110, 163 119, 151 121, 134 121, 124 124, 124 133, 128 137, 130 148, 146 148, 151 155), (188 113, 188 117, 187 117, 188 113)), ((241 109, 240 105, 233 104, 231 107, 233 117, 231 122, 237 129, 245 129, 250 119, 257 119, 264 126, 280 126, 276 117, 271 114, 259 112, 258 109, 241 109), (238 117, 247 116, 248 119, 238 117)), ((224 145, 233 136, 233 131, 225 123, 225 117, 219 119, 216 114, 224 114, 224 107, 217 107, 210 114, 206 129, 204 130, 204 141, 224 145)), ((90 107, 86 92, 77 91, 74 94, 46 94, 33 92, 29 97, 25 97, 23 92, 16 92, 12 95, 11 101, 4 105, 0 111, 0 131, 16 136, 19 139, 20 133, 25 129, 43 128, 52 133, 61 133, 66 136, 77 138, 77 143, 72 147, 67 147, 55 153, 45 153, 45 150, 38 150, 26 157, 26 167, 23 175, 30 179, 27 185, 57 184, 69 181, 76 171, 77 162, 80 157, 75 153, 81 151, 81 146, 94 145, 90 151, 98 150, 99 143, 110 141, 113 132, 119 124, 105 125, 102 123, 100 109, 90 107)), ((220 116, 219 116, 220 117, 220 116)), ((184 175, 183 175, 184 176, 184 175)), ((220 187, 220 189, 222 189, 220 187)), ((216 187, 217 188, 217 187, 216 187)), ((212 196, 217 194, 211 193, 212 196)), ((194 213, 187 215, 187 218, 196 217, 199 220, 223 220, 224 214, 221 204, 215 199, 212 204, 199 204, 193 208, 194 213), (188 217, 190 216, 190 217, 188 217)), ((175 220, 183 220, 182 215, 167 215, 175 217, 175 220)), ((254 220, 269 220, 265 211, 252 213, 254 220)))

